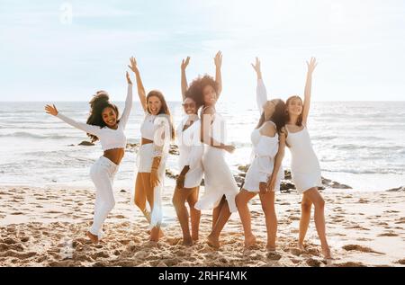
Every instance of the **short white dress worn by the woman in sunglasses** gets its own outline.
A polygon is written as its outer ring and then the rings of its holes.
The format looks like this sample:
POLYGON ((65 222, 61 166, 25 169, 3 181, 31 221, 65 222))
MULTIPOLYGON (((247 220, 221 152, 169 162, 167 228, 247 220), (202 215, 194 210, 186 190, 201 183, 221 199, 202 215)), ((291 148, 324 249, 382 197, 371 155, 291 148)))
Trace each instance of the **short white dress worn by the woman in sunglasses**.
POLYGON ((175 137, 180 153, 178 158, 179 171, 181 172, 185 165, 190 167, 185 174, 184 188, 194 188, 200 186, 202 182, 202 154, 204 149, 200 139, 201 121, 197 118, 190 127, 184 129, 188 119, 188 116, 185 117, 178 125, 175 137))

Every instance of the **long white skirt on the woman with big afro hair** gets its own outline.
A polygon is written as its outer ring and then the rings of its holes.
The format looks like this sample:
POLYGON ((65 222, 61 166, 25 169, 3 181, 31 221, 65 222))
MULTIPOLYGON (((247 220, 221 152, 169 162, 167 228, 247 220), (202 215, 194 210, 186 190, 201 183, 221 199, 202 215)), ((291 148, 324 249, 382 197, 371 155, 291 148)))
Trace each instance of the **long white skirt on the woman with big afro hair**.
POLYGON ((202 156, 204 169, 204 194, 195 204, 195 209, 213 209, 225 195, 230 212, 238 211, 235 197, 238 184, 225 162, 225 150, 207 146, 202 156))

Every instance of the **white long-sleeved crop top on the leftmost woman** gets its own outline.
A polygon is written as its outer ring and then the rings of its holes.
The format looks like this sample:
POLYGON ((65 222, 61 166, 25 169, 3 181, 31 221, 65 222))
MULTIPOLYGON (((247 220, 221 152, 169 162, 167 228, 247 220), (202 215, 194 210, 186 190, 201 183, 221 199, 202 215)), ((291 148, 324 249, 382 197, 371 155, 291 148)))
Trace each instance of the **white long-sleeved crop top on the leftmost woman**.
POLYGON ((84 130, 100 139, 103 150, 113 148, 125 148, 127 146, 127 138, 124 134, 125 126, 130 117, 130 109, 132 107, 132 85, 128 85, 127 99, 125 100, 125 109, 122 112, 120 122, 117 129, 110 129, 108 127, 100 128, 99 126, 89 125, 76 120, 67 118, 65 115, 58 112, 57 117, 60 120, 67 122, 67 124, 75 127, 76 129, 84 130))

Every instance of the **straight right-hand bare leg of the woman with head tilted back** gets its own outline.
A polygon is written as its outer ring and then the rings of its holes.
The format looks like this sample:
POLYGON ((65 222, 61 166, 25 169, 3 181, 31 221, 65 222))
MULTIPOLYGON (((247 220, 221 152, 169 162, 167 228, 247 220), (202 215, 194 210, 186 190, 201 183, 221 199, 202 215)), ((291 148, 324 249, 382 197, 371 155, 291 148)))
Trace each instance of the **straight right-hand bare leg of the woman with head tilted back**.
POLYGON ((267 191, 266 194, 260 194, 262 209, 266 216, 267 228, 267 250, 275 251, 275 239, 277 236, 277 216, 275 214, 275 192, 267 191))

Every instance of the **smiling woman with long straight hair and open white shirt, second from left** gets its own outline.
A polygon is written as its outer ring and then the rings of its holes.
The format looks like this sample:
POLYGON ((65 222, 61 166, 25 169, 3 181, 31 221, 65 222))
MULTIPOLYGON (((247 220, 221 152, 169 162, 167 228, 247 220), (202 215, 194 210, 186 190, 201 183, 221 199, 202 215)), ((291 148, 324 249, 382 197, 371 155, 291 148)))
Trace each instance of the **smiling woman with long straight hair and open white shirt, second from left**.
POLYGON ((141 145, 138 151, 138 174, 135 182, 135 205, 147 218, 150 241, 157 242, 163 232, 161 194, 164 189, 166 158, 174 129, 165 97, 157 90, 146 95, 135 58, 130 69, 135 73, 139 100, 145 111, 145 119, 140 126, 141 145), (147 204, 148 201, 148 204, 147 204))

